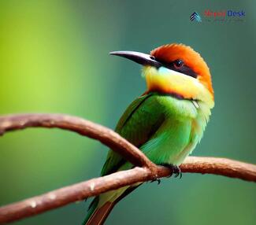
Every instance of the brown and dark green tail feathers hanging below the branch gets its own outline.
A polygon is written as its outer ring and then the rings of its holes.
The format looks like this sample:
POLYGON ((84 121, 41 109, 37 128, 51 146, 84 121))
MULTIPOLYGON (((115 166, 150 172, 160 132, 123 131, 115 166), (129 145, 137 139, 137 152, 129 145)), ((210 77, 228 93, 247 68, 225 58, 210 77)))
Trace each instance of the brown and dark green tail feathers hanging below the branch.
POLYGON ((104 205, 98 208, 98 197, 95 197, 91 202, 87 216, 83 221, 83 225, 102 225, 115 204, 115 201, 107 201, 104 205))

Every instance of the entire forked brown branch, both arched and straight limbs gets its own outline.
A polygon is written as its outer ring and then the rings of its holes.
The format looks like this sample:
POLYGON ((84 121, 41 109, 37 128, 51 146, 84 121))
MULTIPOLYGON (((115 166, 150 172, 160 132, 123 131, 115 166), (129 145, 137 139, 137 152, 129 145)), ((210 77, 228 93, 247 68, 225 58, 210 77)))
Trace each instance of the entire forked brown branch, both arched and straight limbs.
MULTIPOLYGON (((19 201, 0 208, 0 223, 8 223, 17 219, 33 216, 58 208, 86 197, 102 194, 108 190, 116 190, 122 186, 137 182, 147 182, 152 178, 169 176, 168 168, 157 167, 147 157, 117 135, 115 132, 90 121, 74 116, 50 114, 26 114, 0 117, 0 132, 14 131, 25 127, 58 127, 75 131, 80 135, 98 139, 100 142, 115 149, 136 165, 143 168, 133 168, 128 171, 116 172, 104 177, 91 179, 83 183, 66 186, 37 197, 19 201), (148 162, 149 161, 149 162, 148 162)), ((187 157, 180 166, 182 172, 224 175, 256 182, 256 165, 213 157, 187 157)))

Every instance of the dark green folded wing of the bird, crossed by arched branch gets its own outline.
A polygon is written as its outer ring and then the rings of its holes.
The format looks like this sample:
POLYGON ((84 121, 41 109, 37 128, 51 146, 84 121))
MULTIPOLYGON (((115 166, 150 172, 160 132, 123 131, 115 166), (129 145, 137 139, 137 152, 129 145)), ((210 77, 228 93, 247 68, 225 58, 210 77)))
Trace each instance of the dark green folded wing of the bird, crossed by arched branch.
MULTIPOLYGON (((159 103, 154 96, 154 94, 146 94, 135 99, 121 116, 115 130, 138 148, 154 135, 165 120, 162 110, 158 110, 159 103)), ((110 149, 101 175, 117 171, 125 161, 121 155, 110 149)))

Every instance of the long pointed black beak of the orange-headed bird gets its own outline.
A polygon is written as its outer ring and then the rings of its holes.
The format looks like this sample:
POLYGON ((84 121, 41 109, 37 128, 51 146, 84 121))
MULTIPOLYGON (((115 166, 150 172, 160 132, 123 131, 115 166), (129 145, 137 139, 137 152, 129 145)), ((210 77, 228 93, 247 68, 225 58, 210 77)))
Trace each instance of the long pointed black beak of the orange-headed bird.
POLYGON ((140 65, 151 65, 156 68, 161 67, 161 63, 156 61, 153 56, 145 53, 133 52, 133 51, 116 51, 109 53, 110 55, 120 56, 128 58, 129 60, 135 61, 140 65))

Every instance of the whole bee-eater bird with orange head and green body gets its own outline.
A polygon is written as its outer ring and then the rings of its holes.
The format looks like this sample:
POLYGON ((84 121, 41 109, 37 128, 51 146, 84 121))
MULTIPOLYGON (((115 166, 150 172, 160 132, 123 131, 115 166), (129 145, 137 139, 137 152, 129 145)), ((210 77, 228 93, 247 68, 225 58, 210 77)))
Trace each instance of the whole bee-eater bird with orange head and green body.
MULTIPOLYGON (((210 68, 191 46, 171 43, 150 51, 109 53, 142 65, 147 90, 132 101, 115 131, 138 147, 154 164, 180 174, 180 164, 200 142, 214 106, 210 68)), ((133 168, 109 149, 101 175, 133 168)), ((83 221, 101 225, 122 198, 142 183, 124 186, 95 197, 83 221)))

